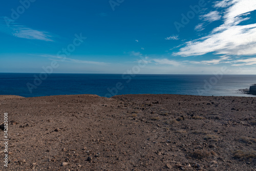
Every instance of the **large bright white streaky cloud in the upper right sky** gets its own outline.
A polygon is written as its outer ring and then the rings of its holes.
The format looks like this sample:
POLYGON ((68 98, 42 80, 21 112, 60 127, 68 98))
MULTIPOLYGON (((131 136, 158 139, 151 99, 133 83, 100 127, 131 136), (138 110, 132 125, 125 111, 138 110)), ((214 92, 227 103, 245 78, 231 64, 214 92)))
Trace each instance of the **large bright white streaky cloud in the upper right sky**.
POLYGON ((250 19, 251 11, 256 10, 256 1, 223 0, 216 3, 215 7, 224 8, 224 23, 212 30, 208 36, 187 41, 186 46, 173 55, 185 57, 210 52, 223 55, 256 55, 256 24, 241 24, 244 20, 250 19))

